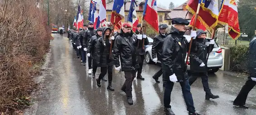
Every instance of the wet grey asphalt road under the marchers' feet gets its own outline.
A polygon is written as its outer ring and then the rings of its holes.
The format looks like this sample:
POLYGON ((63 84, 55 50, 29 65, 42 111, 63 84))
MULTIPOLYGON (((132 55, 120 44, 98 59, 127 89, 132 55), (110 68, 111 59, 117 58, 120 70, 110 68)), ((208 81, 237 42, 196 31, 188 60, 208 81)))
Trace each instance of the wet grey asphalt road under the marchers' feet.
MULTIPOLYGON (((115 91, 108 91, 105 81, 97 87, 96 79, 87 74, 88 65, 82 66, 68 38, 60 38, 59 34, 53 36, 52 55, 41 82, 43 88, 36 93, 34 106, 25 110, 26 115, 164 115, 163 82, 155 83, 152 78, 159 71, 159 66, 144 64, 142 76, 145 81, 133 81, 134 105, 128 105, 126 94, 121 91, 124 72, 113 70, 112 86, 115 91)), ((99 74, 100 68, 96 77, 99 74)), ((256 88, 246 101, 250 109, 232 105, 245 81, 221 71, 209 75, 210 88, 220 98, 206 101, 201 79, 198 78, 191 86, 197 112, 203 115, 256 115, 256 88)), ((174 84, 171 105, 176 115, 188 115, 179 83, 174 84)))

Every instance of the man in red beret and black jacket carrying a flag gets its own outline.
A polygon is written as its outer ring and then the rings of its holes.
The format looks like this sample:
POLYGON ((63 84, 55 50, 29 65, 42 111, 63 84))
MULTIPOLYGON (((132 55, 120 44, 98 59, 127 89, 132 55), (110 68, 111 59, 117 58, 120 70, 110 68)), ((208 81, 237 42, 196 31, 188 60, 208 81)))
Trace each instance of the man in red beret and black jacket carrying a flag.
POLYGON ((123 24, 121 32, 116 37, 114 45, 114 61, 116 70, 124 71, 126 81, 121 90, 126 92, 127 102, 132 105, 132 81, 136 76, 136 70, 139 68, 137 62, 137 38, 142 39, 142 35, 136 35, 131 32, 132 26, 128 23, 123 24), (121 58, 121 65, 119 63, 119 57, 121 58))

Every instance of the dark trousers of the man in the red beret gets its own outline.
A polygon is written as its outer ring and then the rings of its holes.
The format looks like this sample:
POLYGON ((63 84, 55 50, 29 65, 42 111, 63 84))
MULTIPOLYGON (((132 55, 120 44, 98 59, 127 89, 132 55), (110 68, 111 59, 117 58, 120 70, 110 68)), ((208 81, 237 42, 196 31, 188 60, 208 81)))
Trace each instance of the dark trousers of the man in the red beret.
POLYGON ((126 81, 124 85, 122 86, 122 90, 126 91, 127 98, 132 97, 131 91, 132 91, 132 81, 136 77, 136 71, 125 71, 125 77, 126 81))

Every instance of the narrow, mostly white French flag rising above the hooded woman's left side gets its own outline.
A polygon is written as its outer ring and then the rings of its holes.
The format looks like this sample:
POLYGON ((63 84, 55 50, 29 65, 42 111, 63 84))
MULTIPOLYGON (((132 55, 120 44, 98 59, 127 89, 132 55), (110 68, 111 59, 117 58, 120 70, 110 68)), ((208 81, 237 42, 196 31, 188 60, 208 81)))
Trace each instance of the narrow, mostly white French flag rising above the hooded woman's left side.
POLYGON ((106 0, 101 0, 100 9, 99 9, 99 16, 97 21, 97 28, 100 27, 101 23, 105 24, 106 21, 106 0))

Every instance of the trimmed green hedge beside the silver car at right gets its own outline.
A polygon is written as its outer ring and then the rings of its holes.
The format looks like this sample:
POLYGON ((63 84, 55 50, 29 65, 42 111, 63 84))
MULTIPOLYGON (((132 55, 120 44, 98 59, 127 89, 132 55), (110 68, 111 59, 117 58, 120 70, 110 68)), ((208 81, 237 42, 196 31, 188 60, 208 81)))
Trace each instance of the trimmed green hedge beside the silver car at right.
POLYGON ((248 73, 248 44, 228 45, 230 48, 230 70, 235 72, 248 73))

